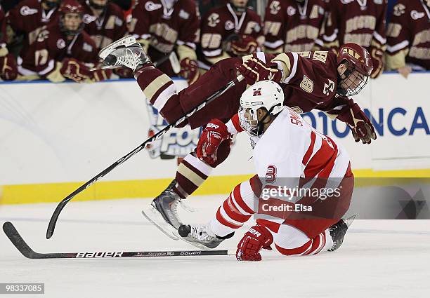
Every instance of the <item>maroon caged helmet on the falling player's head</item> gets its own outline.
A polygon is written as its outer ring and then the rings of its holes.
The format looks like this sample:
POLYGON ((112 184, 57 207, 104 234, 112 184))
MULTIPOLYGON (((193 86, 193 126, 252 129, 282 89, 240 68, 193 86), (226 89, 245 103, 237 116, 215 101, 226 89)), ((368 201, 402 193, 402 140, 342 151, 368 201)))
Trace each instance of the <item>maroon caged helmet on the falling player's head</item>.
POLYGON ((345 96, 358 94, 372 74, 373 63, 369 52, 356 43, 345 43, 337 53, 337 65, 347 69, 339 79, 337 93, 345 96))

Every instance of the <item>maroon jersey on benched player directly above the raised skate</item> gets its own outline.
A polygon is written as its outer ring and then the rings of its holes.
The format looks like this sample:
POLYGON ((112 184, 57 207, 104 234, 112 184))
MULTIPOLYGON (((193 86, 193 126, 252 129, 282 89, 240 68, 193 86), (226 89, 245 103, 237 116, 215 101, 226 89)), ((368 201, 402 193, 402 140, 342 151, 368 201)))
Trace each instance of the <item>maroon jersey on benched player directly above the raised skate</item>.
POLYGON ((104 48, 126 34, 124 13, 116 4, 108 2, 105 11, 98 17, 94 15, 88 1, 82 2, 82 7, 84 8, 84 30, 91 36, 97 48, 104 48))

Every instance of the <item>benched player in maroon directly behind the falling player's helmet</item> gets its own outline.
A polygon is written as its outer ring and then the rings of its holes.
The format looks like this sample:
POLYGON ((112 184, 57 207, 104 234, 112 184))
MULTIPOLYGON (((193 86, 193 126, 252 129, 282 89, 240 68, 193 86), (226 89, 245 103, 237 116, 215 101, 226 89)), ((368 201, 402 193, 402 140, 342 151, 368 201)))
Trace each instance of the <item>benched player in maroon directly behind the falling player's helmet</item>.
POLYGON ((334 53, 344 43, 363 46, 372 57, 374 79, 384 69, 386 8, 386 0, 330 0, 323 41, 316 42, 334 53))

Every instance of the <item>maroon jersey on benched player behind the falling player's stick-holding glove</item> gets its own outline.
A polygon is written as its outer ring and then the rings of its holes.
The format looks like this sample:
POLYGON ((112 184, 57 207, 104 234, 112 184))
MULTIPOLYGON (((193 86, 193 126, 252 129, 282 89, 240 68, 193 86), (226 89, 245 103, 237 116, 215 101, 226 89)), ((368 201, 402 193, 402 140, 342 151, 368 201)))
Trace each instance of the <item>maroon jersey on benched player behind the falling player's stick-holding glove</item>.
POLYGON ((235 57, 231 51, 225 51, 223 41, 232 36, 249 35, 263 44, 261 18, 255 11, 247 8, 242 15, 236 15, 230 4, 211 9, 202 18, 202 52, 204 57, 214 64, 226 57, 235 57))

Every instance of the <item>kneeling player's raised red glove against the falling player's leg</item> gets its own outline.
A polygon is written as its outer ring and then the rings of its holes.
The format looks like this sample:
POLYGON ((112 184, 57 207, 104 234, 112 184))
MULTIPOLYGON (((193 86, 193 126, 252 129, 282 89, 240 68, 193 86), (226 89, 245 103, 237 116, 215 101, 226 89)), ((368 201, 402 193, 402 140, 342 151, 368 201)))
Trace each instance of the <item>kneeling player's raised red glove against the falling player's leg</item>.
POLYGON ((218 151, 219 145, 229 138, 230 133, 228 133, 226 124, 218 119, 212 119, 200 135, 196 149, 197 158, 211 165, 216 161, 216 151, 218 151))

